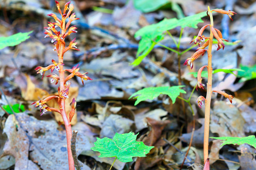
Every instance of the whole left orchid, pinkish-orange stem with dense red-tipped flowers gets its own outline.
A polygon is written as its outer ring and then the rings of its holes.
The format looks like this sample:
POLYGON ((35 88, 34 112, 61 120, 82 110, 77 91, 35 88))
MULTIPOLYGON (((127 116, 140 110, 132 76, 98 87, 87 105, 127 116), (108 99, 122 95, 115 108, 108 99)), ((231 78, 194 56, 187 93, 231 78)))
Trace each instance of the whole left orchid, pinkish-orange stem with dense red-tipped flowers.
POLYGON ((69 114, 66 114, 65 100, 67 98, 69 98, 69 96, 68 96, 69 87, 71 85, 71 82, 69 80, 71 78, 73 78, 74 76, 79 76, 82 80, 82 84, 83 84, 83 80, 91 80, 91 78, 84 75, 87 73, 81 74, 79 72, 78 65, 74 66, 72 69, 65 69, 65 70, 63 69, 64 53, 71 49, 78 50, 76 47, 77 42, 75 42, 75 38, 69 43, 69 45, 67 47, 65 46, 64 40, 67 35, 70 35, 71 33, 77 33, 77 31, 75 31, 77 29, 75 26, 71 26, 71 27, 69 27, 69 26, 72 21, 79 19, 79 18, 75 18, 75 13, 71 14, 74 6, 73 6, 73 4, 70 4, 70 2, 67 2, 65 4, 63 13, 60 9, 59 2, 55 1, 55 3, 57 5, 58 11, 62 17, 58 18, 55 14, 48 14, 48 16, 51 16, 55 19, 55 22, 53 22, 53 23, 48 22, 48 26, 45 27, 45 29, 46 29, 45 30, 45 34, 46 34, 45 38, 50 37, 52 39, 52 43, 54 43, 53 51, 57 52, 59 61, 56 62, 55 60, 52 59, 53 64, 51 64, 47 67, 39 66, 39 67, 35 68, 35 70, 37 71, 37 73, 40 73, 42 75, 42 79, 47 70, 51 70, 51 72, 53 72, 54 70, 58 71, 58 75, 53 74, 53 75, 47 76, 47 77, 51 77, 51 80, 50 80, 51 83, 54 83, 56 81, 55 85, 57 85, 57 83, 60 82, 60 86, 58 87, 58 95, 48 96, 45 99, 39 100, 37 102, 33 102, 32 104, 36 104, 36 107, 39 106, 40 111, 42 111, 41 115, 45 114, 46 111, 55 111, 55 112, 58 112, 61 114, 62 119, 64 121, 65 129, 66 129, 69 170, 74 170, 75 167, 74 167, 74 161, 73 161, 72 152, 71 152, 71 137, 72 137, 71 120, 75 113, 76 101, 73 98, 72 102, 70 103, 71 111, 69 114), (69 21, 67 23, 65 23, 66 19, 69 19, 69 21), (57 27, 59 27, 59 28, 57 28, 57 27), (57 31, 56 28, 60 29, 60 31, 57 31), (69 72, 70 75, 65 77, 65 75, 64 75, 65 71, 69 72), (49 102, 52 99, 58 100, 59 109, 51 108, 46 105, 46 102, 49 102))

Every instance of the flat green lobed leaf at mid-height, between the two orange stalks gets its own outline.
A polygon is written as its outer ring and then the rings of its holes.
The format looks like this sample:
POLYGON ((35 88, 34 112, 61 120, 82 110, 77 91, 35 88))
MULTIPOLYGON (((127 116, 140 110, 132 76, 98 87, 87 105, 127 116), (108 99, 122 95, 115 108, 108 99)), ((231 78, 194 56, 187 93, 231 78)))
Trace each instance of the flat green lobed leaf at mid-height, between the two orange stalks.
POLYGON ((168 95, 173 103, 176 101, 176 98, 180 95, 180 93, 186 93, 183 89, 180 89, 181 87, 184 87, 184 85, 176 85, 176 86, 164 86, 164 87, 148 87, 144 88, 142 90, 137 91, 136 93, 133 93, 129 99, 134 97, 134 99, 137 99, 134 105, 137 105, 141 101, 145 100, 153 100, 156 97, 158 97, 160 94, 166 94, 168 95))

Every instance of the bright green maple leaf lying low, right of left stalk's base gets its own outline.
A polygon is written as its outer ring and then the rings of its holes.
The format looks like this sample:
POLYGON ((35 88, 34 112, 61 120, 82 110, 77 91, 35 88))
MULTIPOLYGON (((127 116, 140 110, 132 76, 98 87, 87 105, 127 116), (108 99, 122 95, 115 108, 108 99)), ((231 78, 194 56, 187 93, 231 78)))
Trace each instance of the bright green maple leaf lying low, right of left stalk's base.
POLYGON ((95 146, 91 150, 100 152, 99 157, 116 157, 121 162, 130 162, 132 157, 145 157, 154 148, 154 146, 147 146, 143 142, 137 142, 137 135, 129 132, 126 134, 116 133, 113 139, 97 137, 95 146))

